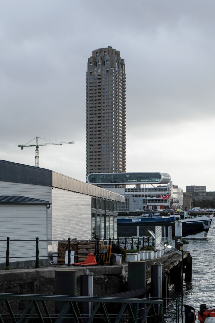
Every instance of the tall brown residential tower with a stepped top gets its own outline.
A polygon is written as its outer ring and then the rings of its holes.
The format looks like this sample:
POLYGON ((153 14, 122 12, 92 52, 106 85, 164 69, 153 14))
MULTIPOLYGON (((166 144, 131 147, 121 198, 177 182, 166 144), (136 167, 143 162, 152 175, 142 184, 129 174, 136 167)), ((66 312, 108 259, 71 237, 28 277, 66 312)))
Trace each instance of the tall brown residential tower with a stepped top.
POLYGON ((118 50, 93 51, 86 93, 86 175, 126 172, 126 74, 118 50))

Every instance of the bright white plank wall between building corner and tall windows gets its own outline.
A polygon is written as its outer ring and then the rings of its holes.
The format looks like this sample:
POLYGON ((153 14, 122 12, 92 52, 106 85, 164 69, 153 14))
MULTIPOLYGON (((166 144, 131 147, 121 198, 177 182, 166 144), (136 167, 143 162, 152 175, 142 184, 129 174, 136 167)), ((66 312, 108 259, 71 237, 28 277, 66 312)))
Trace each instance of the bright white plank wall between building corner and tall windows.
POLYGON ((91 196, 52 188, 52 239, 91 238, 91 196))

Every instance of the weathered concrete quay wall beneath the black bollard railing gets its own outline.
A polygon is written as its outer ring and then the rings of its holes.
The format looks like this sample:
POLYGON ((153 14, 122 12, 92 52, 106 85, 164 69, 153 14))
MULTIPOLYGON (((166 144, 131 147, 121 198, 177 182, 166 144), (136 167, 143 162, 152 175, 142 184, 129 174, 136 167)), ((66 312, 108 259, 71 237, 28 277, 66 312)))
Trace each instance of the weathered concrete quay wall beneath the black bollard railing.
MULTIPOLYGON (((184 257, 186 253, 184 254, 184 257)), ((154 263, 162 263, 166 269, 177 264, 179 256, 175 252, 162 257, 146 260, 147 270, 154 263), (171 260, 171 261, 170 261, 171 260), (166 265, 165 265, 166 264, 166 265), (168 265, 167 265, 168 264, 168 265)), ((1 293, 54 295, 55 270, 76 270, 77 296, 80 296, 80 276, 93 272, 94 296, 105 296, 127 290, 128 264, 114 266, 47 266, 41 268, 12 269, 0 271, 1 293)), ((150 279, 148 280, 150 281, 150 279)))

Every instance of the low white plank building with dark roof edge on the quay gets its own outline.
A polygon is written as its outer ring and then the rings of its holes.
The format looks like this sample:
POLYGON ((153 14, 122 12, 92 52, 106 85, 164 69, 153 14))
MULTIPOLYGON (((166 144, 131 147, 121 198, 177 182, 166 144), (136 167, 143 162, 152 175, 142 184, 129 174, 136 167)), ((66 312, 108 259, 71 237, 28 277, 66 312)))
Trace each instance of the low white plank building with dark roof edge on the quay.
MULTIPOLYGON (((39 237, 39 254, 46 257, 55 250, 57 240, 68 237, 85 240, 95 234, 100 239, 116 237, 117 203, 124 202, 122 195, 66 175, 2 160, 0 195, 1 240, 5 240, 0 243, 0 250, 6 252, 7 237, 10 240, 39 237)), ((13 253, 21 260, 30 260, 29 250, 28 242, 17 242, 13 253)), ((10 261, 13 259, 16 258, 10 261)))

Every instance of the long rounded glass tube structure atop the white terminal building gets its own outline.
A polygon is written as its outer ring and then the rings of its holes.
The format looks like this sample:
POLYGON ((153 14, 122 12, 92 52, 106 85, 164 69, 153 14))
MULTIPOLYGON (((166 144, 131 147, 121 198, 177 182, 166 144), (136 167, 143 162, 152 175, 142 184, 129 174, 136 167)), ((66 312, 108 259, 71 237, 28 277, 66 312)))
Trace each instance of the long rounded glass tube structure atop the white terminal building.
POLYGON ((89 174, 87 182, 90 184, 168 184, 171 177, 167 173, 97 173, 89 174))

